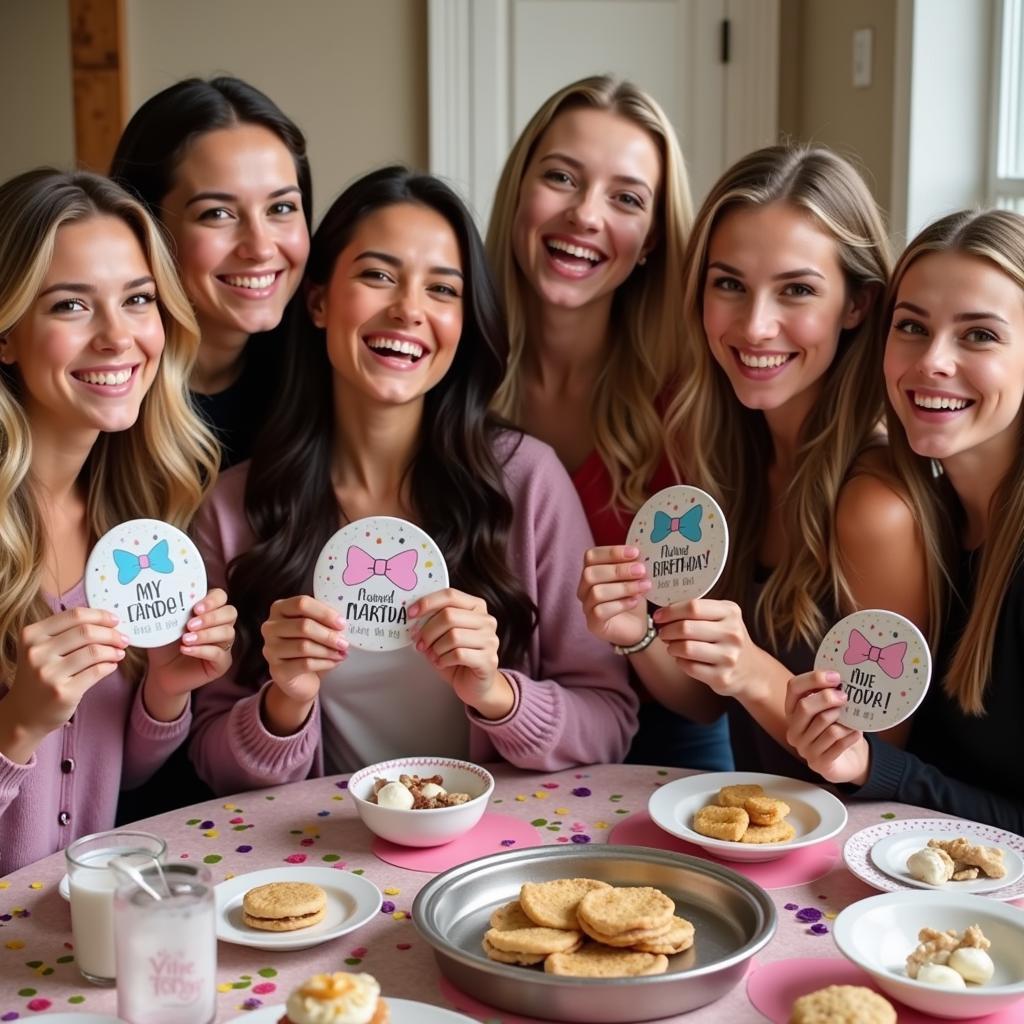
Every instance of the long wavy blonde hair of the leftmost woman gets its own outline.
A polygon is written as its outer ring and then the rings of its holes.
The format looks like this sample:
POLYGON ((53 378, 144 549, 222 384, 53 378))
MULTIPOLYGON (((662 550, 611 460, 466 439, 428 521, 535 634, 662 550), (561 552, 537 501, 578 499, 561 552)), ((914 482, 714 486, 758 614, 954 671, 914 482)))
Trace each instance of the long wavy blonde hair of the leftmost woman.
MULTIPOLYGON (((193 411, 187 381, 199 330, 161 234, 140 203, 94 174, 42 168, 0 185, 0 335, 28 312, 65 224, 111 216, 138 239, 157 283, 165 346, 136 424, 101 433, 82 469, 95 540, 119 522, 187 525, 217 475, 217 446, 193 411)), ((17 664, 17 638, 51 612, 41 595, 47 538, 33 495, 32 437, 16 365, 0 366, 0 682, 17 664)), ((136 673, 142 655, 126 659, 136 673)))

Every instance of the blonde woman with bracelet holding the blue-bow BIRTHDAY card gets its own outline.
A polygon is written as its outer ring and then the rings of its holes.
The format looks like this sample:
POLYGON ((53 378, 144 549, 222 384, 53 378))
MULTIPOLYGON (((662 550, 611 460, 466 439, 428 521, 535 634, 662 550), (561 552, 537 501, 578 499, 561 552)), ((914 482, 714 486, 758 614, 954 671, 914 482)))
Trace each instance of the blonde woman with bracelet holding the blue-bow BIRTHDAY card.
POLYGON ((808 774, 785 745, 786 683, 836 618, 881 606, 929 622, 918 531, 879 434, 888 267, 870 194, 829 151, 772 146, 726 171, 690 236, 691 368, 669 430, 686 480, 725 510, 728 563, 714 599, 648 618, 637 550, 588 555, 592 631, 634 647, 668 707, 698 720, 726 707, 737 767, 808 774))

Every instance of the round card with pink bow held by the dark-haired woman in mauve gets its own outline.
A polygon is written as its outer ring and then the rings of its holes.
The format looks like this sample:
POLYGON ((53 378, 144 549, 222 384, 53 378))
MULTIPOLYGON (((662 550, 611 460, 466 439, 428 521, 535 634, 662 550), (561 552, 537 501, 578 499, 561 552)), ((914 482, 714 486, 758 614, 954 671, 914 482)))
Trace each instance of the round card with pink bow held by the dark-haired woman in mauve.
POLYGON ((342 526, 316 559, 313 596, 345 617, 345 636, 361 650, 412 643, 406 609, 447 586, 444 556, 428 534, 393 516, 342 526))

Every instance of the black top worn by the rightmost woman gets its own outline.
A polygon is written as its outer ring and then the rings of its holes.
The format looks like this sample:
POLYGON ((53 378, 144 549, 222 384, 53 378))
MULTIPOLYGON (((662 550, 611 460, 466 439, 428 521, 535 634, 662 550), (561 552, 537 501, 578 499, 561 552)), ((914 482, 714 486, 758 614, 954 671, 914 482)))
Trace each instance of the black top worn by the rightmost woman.
POLYGON ((913 718, 906 751, 867 736, 871 767, 854 796, 898 800, 1024 834, 1024 567, 1012 577, 999 611, 985 714, 965 715, 942 685, 967 622, 980 558, 965 552, 943 629, 932 684, 913 718))

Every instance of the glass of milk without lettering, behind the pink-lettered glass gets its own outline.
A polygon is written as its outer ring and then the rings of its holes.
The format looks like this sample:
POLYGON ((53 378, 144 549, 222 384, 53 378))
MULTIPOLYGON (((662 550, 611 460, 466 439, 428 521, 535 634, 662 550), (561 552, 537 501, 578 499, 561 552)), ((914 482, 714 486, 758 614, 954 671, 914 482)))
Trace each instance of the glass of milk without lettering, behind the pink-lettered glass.
POLYGON ((86 981, 113 985, 117 977, 114 892, 119 879, 109 866, 111 860, 131 855, 144 867, 163 861, 166 854, 167 844, 159 836, 131 829, 83 836, 65 850, 75 958, 86 981))

